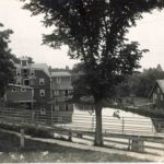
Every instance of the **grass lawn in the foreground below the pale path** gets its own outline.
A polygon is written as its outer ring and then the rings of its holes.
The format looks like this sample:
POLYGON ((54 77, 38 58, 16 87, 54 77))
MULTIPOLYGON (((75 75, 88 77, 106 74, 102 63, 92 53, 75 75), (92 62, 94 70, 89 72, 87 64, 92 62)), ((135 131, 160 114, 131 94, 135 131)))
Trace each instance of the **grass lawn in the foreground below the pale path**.
POLYGON ((20 139, 0 131, 1 163, 56 163, 56 162, 145 162, 118 154, 101 153, 67 148, 58 144, 25 140, 25 149, 20 149, 20 139))

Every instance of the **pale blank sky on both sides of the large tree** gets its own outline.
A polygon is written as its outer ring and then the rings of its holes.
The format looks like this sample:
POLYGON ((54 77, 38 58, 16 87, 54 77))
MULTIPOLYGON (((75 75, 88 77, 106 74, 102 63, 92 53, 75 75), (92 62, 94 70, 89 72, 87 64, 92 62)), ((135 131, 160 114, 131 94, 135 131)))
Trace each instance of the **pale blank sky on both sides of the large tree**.
MULTIPOLYGON (((5 28, 13 30, 10 48, 16 57, 30 56, 35 62, 47 63, 52 68, 72 68, 77 60, 67 56, 68 47, 60 50, 42 45, 42 35, 48 34, 50 30, 42 24, 43 16, 31 16, 31 12, 21 9, 23 5, 19 0, 0 0, 0 22, 5 28)), ((143 68, 154 68, 159 63, 164 68, 164 11, 153 11, 144 14, 138 21, 137 26, 130 28, 127 37, 140 43, 140 48, 150 51, 144 54, 140 65, 143 68)))

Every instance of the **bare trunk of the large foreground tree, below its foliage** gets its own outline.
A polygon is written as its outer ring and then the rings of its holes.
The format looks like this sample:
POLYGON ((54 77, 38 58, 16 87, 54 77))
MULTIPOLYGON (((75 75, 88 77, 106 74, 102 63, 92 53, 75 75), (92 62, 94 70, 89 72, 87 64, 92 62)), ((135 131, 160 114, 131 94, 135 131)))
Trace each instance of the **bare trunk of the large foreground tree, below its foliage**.
POLYGON ((103 145, 101 103, 95 104, 95 114, 96 114, 95 145, 103 145))

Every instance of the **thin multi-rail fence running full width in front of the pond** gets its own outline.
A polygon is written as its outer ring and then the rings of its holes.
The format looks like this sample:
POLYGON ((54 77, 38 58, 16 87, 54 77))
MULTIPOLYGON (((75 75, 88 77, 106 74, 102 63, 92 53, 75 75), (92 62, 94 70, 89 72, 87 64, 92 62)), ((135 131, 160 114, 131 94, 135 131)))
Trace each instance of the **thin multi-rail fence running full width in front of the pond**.
MULTIPOLYGON (((36 122, 43 125, 65 126, 67 129, 86 128, 95 130, 95 115, 75 114, 73 112, 52 112, 40 114, 27 109, 0 108, 0 119, 21 122, 36 122)), ((103 116, 103 131, 117 132, 122 134, 149 134, 162 136, 164 129, 164 119, 145 119, 134 117, 114 118, 103 116)))

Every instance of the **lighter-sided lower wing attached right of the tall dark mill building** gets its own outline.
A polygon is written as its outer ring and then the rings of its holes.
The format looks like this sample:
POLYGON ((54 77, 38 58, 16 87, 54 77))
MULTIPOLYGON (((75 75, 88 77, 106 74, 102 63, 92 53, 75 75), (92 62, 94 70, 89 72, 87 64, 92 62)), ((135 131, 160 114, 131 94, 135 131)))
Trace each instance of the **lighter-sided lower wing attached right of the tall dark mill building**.
POLYGON ((73 90, 69 71, 52 71, 51 74, 51 109, 57 121, 70 122, 73 105, 68 101, 73 90))

